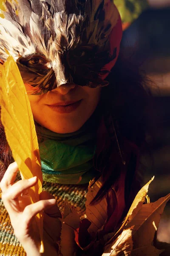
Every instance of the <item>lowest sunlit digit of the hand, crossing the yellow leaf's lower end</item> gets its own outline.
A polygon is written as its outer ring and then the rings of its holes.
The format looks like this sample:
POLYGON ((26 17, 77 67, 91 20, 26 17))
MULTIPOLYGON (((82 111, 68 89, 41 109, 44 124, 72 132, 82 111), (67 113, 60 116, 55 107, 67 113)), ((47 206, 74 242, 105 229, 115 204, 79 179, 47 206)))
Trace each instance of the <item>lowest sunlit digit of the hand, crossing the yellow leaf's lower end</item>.
POLYGON ((47 199, 47 200, 40 200, 34 204, 30 204, 26 206, 23 210, 23 218, 24 223, 26 226, 29 226, 31 223, 32 218, 37 215, 37 213, 41 212, 42 210, 48 209, 52 207, 56 203, 55 199, 47 199))

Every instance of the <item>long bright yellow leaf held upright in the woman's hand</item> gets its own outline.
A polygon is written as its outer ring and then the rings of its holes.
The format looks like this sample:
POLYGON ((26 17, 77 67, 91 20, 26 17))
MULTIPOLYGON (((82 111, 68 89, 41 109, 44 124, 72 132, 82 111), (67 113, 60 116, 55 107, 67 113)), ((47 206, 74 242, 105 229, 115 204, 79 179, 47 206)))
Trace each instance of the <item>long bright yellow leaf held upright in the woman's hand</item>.
MULTIPOLYGON (((39 201, 39 193, 42 191, 37 134, 26 89, 17 64, 11 56, 3 65, 0 65, 0 105, 6 138, 22 179, 38 177, 37 185, 28 191, 31 202, 35 203, 39 201)), ((42 214, 38 214, 36 220, 42 251, 42 214)))

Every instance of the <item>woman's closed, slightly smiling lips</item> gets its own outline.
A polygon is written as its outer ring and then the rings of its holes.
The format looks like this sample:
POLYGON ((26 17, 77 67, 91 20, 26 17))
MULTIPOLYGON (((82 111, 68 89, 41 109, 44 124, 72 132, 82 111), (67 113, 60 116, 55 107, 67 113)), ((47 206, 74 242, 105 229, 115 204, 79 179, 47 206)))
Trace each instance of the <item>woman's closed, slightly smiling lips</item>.
POLYGON ((59 102, 59 103, 55 103, 53 105, 47 105, 47 106, 58 113, 71 113, 72 111, 74 111, 79 107, 81 102, 82 100, 79 100, 76 102, 75 101, 59 102))

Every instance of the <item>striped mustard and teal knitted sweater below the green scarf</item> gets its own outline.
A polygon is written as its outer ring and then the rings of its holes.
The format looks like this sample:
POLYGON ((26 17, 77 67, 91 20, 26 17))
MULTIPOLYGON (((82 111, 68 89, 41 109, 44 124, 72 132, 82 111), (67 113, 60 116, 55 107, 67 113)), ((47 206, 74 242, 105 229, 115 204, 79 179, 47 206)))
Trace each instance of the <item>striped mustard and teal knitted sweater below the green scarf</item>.
MULTIPOLYGON (((80 216, 85 212, 85 195, 87 193, 85 185, 62 185, 57 183, 43 182, 42 190, 50 192, 56 198, 59 209, 63 210, 64 201, 73 205, 80 216)), ((14 236, 11 221, 1 200, 0 190, 0 256, 26 256, 22 245, 14 236)))

